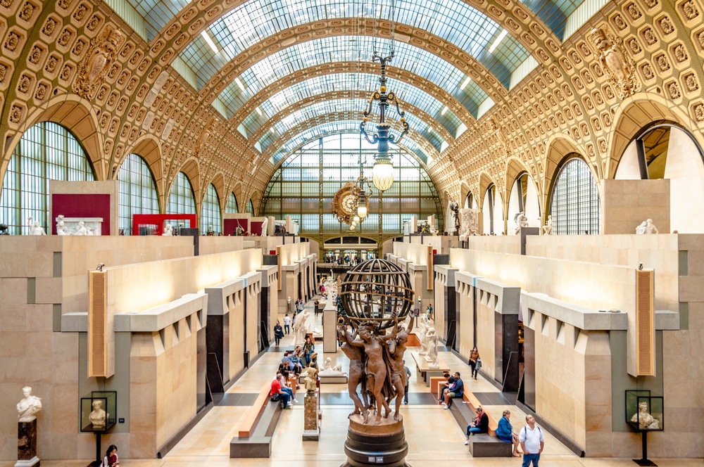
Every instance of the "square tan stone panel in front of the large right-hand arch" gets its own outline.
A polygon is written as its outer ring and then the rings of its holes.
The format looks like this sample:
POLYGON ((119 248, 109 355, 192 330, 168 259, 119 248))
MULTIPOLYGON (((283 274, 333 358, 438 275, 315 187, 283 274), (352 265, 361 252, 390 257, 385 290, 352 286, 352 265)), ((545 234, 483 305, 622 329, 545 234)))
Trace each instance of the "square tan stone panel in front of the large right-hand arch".
POLYGON ((636 233, 646 219, 670 233, 670 180, 601 181, 601 233, 636 233))

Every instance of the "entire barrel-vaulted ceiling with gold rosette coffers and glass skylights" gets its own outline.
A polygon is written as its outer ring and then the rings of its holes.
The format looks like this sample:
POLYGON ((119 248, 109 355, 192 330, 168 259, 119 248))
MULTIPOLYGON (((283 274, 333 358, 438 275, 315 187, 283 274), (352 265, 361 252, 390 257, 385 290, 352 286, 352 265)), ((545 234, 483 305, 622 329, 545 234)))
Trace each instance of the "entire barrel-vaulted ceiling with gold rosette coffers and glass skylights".
POLYGON ((358 131, 378 86, 372 52, 393 49, 389 89, 411 127, 403 147, 439 191, 482 196, 487 179, 505 191, 509 164, 544 198, 565 151, 598 178, 613 172, 628 137, 611 136, 619 119, 668 117, 674 103, 683 123, 704 121, 702 11, 699 0, 3 0, 0 175, 27 125, 55 120, 82 140, 99 179, 141 151, 161 196, 184 171, 199 187, 222 177, 221 199, 258 203, 291 151, 358 131), (636 92, 652 94, 634 114, 594 27, 634 60, 636 92), (77 91, 111 31, 120 37, 104 77, 77 91))

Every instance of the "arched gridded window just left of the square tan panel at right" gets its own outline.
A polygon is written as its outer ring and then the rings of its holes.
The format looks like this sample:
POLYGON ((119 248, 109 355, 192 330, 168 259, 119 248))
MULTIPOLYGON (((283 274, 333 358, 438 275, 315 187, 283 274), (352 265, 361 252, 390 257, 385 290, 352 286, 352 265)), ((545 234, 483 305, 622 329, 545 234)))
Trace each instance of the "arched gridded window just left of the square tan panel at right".
POLYGON ((551 194, 550 215, 555 235, 599 233, 599 193, 584 160, 562 165, 551 194))

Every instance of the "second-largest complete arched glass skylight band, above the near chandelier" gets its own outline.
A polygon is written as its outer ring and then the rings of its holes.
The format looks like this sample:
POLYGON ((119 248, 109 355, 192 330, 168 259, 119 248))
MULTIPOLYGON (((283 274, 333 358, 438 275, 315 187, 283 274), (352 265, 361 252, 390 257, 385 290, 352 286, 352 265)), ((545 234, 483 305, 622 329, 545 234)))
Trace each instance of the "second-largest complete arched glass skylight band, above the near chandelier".
MULTIPOLYGON (((232 82, 220 93, 220 99, 227 106, 227 111, 231 113, 227 117, 234 115, 244 103, 256 96, 259 91, 273 82, 284 79, 292 72, 321 65, 322 63, 363 61, 360 58, 360 53, 351 49, 351 45, 354 44, 351 42, 352 39, 356 38, 351 36, 329 37, 315 39, 303 44, 295 44, 252 65, 251 68, 248 68, 239 76, 239 83, 244 86, 244 91, 237 82, 232 82)), ((374 48, 372 39, 368 37, 363 37, 361 42, 366 47, 365 50, 374 48)), ((379 43, 391 46, 391 41, 377 41, 377 44, 379 43)), ((465 89, 460 89, 467 76, 455 66, 417 47, 398 43, 395 46, 396 57, 391 62, 392 68, 407 70, 438 84, 448 94, 455 97, 470 114, 474 117, 477 116, 479 104, 488 97, 482 88, 474 82, 469 82, 465 89)), ((378 76, 365 75, 365 79, 367 77, 370 79, 370 83, 376 87, 378 76)), ((397 83, 397 79, 391 79, 389 82, 390 89, 398 88, 397 83)), ((363 86, 366 84, 367 82, 363 82, 363 86)), ((355 89, 366 88, 357 87, 355 89)), ((413 89, 411 91, 413 93, 416 92, 413 89)), ((408 94, 406 96, 399 94, 399 97, 402 100, 409 100, 408 94)))

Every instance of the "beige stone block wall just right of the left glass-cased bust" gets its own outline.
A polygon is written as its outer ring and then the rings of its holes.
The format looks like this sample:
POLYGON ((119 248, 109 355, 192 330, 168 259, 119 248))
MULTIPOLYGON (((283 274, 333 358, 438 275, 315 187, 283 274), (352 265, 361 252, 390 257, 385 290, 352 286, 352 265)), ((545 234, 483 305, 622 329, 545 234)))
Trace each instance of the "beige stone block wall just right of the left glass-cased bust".
POLYGON ((130 452, 125 457, 153 459, 196 416, 198 328, 192 316, 178 321, 178 334, 171 325, 132 335, 130 452))

